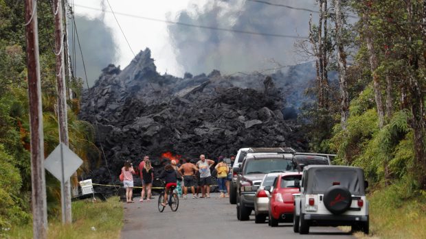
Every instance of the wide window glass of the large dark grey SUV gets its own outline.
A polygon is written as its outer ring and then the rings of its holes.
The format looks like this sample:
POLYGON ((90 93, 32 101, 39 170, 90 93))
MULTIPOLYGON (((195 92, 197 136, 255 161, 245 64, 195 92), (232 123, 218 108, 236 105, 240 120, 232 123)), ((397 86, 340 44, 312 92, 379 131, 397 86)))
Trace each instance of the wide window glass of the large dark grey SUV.
POLYGON ((249 160, 245 165, 245 174, 271 173, 273 171, 294 171, 294 164, 291 160, 283 158, 262 158, 249 160))

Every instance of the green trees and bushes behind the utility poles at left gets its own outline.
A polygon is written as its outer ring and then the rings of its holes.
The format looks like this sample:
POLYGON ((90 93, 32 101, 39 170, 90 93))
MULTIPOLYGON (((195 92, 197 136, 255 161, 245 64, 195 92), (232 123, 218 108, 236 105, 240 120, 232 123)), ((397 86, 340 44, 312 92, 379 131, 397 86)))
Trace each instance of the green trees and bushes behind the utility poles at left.
MULTIPOLYGON (((58 145, 58 118, 55 113, 55 55, 52 51, 54 42, 49 37, 53 33, 54 26, 48 1, 37 1, 37 3, 40 9, 38 36, 43 92, 44 148, 45 155, 49 155, 58 145)), ((0 238, 9 237, 11 232, 16 235, 22 227, 27 228, 32 225, 30 118, 23 4, 23 1, 0 0, 0 238)), ((96 162, 99 153, 93 142, 93 126, 77 118, 81 86, 80 79, 72 79, 68 85, 76 96, 74 99, 68 99, 69 143, 71 149, 85 161, 83 168, 88 168, 88 162, 96 162)), ((76 181, 73 181, 73 184, 76 185, 76 181)), ((46 190, 49 222, 60 221, 60 185, 58 180, 49 173, 46 173, 46 190)), ((74 203, 74 205, 76 207, 73 212, 78 217, 82 215, 79 210, 89 212, 89 205, 92 204, 74 203)), ((111 203, 105 206, 108 207, 106 209, 109 209, 109 206, 112 207, 111 203)), ((93 209, 96 208, 100 210, 102 207, 96 205, 93 209)), ((109 212, 113 213, 114 210, 104 211, 104 213, 109 212)), ((93 211, 93 215, 96 214, 101 213, 93 211)), ((79 221, 76 221, 76 225, 78 223, 79 221)), ((115 223, 115 225, 121 225, 120 216, 117 216, 115 223)), ((111 229, 114 229, 115 225, 111 229)), ((75 227, 73 225, 69 232, 75 231, 75 227)), ((64 233, 59 228, 60 224, 52 223, 52 227, 49 228, 52 232, 49 233, 55 233, 55 231, 64 233)), ((52 236, 52 238, 58 237, 52 236)), ((22 237, 12 236, 12 238, 22 237)))

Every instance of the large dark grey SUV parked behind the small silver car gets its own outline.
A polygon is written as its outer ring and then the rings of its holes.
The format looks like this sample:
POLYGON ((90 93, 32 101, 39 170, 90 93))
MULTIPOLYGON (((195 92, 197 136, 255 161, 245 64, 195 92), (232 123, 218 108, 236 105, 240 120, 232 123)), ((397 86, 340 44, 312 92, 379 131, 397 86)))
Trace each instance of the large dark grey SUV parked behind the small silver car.
POLYGON ((249 220, 249 215, 254 210, 256 192, 265 174, 295 171, 292 158, 291 153, 250 155, 239 168, 233 168, 238 173, 236 179, 238 220, 249 220))

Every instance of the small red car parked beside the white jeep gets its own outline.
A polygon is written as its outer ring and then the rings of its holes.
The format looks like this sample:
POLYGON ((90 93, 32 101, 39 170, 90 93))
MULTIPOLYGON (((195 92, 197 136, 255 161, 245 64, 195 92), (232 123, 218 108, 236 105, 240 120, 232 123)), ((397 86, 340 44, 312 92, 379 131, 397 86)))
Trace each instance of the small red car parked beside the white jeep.
POLYGON ((269 226, 277 227, 279 222, 293 222, 293 194, 300 193, 300 179, 302 173, 282 173, 276 178, 273 187, 265 188, 272 188, 269 196, 269 226))

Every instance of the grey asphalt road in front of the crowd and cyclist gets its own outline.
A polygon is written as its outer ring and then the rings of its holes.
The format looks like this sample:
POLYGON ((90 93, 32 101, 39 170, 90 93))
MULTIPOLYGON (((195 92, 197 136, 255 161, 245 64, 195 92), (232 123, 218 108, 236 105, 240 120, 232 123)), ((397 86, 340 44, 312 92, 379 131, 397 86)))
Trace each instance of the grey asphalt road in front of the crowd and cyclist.
POLYGON ((279 227, 254 223, 254 214, 250 221, 238 221, 236 206, 229 199, 218 198, 212 193, 210 199, 179 199, 177 212, 166 207, 164 212, 157 209, 157 199, 150 202, 123 203, 124 227, 122 238, 149 239, 225 239, 225 238, 354 238, 335 227, 311 227, 309 235, 293 232, 291 224, 280 223, 279 227))

